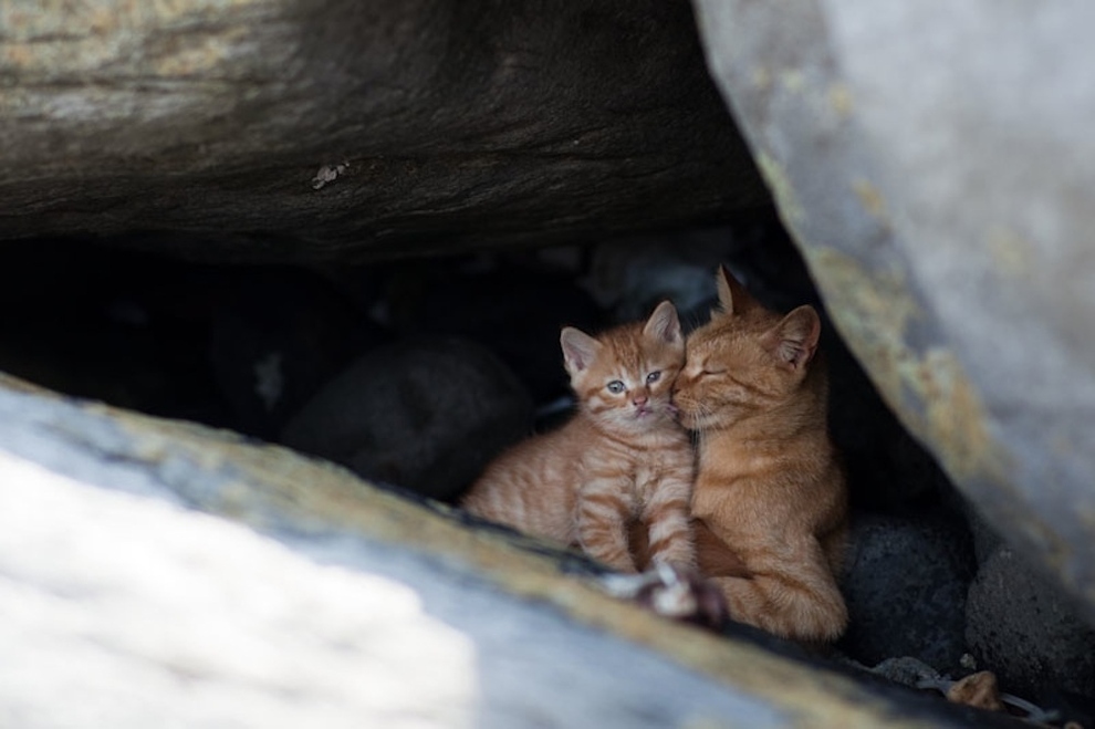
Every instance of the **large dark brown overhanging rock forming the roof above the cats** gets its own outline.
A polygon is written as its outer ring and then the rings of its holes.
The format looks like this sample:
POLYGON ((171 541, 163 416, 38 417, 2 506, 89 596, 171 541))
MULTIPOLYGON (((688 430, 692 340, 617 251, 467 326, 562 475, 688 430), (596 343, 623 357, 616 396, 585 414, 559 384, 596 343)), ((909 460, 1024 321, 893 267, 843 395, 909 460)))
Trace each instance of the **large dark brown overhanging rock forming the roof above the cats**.
POLYGON ((687 0, 6 7, 2 239, 345 260, 768 197, 687 0))

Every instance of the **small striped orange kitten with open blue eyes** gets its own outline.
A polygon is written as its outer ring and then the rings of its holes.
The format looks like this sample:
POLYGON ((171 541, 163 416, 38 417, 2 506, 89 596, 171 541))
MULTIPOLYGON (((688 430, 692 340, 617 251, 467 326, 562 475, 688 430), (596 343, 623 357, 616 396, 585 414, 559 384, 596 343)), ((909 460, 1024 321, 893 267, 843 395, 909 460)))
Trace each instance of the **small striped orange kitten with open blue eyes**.
POLYGON ((677 310, 665 301, 645 323, 597 337, 566 327, 560 344, 576 415, 503 452, 460 506, 620 572, 636 571, 628 529, 638 523, 651 561, 693 565, 693 454, 669 399, 685 362, 677 310))

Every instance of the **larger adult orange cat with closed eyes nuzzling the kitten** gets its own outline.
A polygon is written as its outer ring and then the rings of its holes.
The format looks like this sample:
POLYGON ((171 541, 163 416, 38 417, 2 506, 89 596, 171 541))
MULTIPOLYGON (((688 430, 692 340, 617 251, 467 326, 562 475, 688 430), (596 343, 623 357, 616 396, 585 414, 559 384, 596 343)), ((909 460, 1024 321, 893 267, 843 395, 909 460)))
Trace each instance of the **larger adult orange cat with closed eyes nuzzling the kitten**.
POLYGON ((699 569, 730 616, 783 637, 835 641, 847 487, 826 429, 828 381, 810 306, 763 309, 722 269, 721 311, 688 337, 674 386, 699 433, 692 492, 699 569))

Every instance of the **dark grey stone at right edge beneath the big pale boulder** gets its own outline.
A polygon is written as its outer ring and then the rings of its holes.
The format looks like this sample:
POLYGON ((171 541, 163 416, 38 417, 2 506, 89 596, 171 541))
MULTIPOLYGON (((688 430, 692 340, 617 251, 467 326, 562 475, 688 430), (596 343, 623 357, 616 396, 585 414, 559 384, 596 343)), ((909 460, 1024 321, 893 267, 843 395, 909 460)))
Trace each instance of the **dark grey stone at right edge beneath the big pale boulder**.
POLYGON ((1005 690, 1095 696, 1095 629, 1070 596, 1007 544, 978 571, 966 615, 978 666, 997 674, 1005 690))

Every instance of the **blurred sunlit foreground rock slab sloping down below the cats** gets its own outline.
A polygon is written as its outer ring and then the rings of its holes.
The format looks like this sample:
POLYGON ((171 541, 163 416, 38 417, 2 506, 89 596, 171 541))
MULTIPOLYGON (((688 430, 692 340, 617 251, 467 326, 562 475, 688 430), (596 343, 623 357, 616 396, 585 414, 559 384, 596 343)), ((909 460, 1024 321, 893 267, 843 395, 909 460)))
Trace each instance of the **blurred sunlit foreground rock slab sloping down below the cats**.
MULTIPOLYGON (((0 383, 0 723, 974 726, 223 433, 0 383)), ((984 725, 980 725, 984 726, 984 725)))

